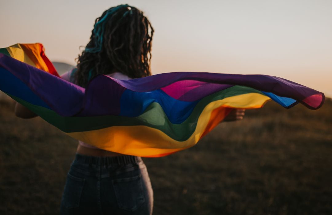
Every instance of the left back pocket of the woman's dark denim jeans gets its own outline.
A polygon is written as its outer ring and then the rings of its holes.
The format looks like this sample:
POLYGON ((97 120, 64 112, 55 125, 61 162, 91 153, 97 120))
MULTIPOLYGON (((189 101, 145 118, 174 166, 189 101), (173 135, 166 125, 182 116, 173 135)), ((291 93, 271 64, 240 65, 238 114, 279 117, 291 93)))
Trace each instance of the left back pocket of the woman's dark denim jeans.
POLYGON ((68 173, 67 181, 64 186, 61 207, 63 206, 67 209, 79 207, 84 183, 84 178, 78 178, 68 173))

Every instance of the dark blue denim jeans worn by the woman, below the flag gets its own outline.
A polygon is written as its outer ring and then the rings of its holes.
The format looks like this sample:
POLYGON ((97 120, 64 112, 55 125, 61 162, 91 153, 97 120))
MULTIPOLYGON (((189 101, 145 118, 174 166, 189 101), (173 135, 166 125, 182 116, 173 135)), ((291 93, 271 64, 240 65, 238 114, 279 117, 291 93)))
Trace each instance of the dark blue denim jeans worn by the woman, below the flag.
POLYGON ((61 214, 152 214, 153 191, 140 157, 76 154, 67 175, 61 214))

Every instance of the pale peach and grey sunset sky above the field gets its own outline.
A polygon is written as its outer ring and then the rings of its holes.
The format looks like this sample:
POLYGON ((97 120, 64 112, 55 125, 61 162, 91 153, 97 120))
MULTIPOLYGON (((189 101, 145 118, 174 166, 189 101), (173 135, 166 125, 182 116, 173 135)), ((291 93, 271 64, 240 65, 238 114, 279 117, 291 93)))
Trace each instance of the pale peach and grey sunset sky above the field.
POLYGON ((332 97, 331 0, 0 0, 0 47, 39 42, 75 65, 95 19, 125 3, 155 30, 153 74, 266 74, 332 97))

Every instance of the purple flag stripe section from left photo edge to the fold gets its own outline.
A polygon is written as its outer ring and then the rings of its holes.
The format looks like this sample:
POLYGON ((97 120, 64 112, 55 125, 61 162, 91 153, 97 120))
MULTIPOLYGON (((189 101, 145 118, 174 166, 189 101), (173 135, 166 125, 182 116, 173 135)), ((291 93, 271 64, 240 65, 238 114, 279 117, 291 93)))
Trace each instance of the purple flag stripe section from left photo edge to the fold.
POLYGON ((71 116, 82 108, 84 88, 3 54, 0 54, 0 67, 26 84, 58 114, 71 116))

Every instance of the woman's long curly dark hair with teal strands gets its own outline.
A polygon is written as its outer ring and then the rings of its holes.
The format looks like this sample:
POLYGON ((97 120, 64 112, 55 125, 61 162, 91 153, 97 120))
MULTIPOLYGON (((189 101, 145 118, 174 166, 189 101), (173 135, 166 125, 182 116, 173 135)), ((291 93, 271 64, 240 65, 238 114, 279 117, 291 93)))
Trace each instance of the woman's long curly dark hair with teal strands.
POLYGON ((86 87, 94 76, 115 71, 130 78, 150 76, 153 32, 149 20, 135 7, 106 10, 96 19, 90 42, 78 56, 74 80, 86 87))

